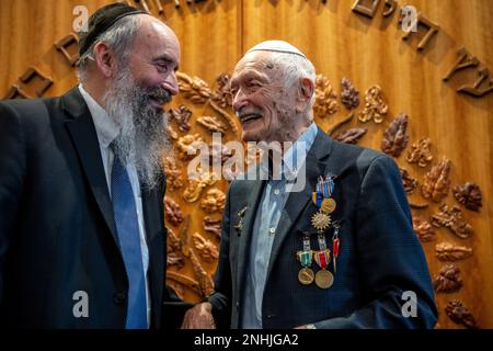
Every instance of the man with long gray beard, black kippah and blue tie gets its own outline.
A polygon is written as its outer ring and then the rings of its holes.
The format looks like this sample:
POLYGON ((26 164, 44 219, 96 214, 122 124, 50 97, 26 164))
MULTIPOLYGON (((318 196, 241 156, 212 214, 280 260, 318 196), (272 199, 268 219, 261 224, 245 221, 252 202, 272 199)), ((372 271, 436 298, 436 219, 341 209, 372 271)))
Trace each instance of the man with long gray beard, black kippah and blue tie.
POLYGON ((0 102, 0 325, 179 327, 160 158, 180 44, 123 3, 88 29, 78 87, 0 102))

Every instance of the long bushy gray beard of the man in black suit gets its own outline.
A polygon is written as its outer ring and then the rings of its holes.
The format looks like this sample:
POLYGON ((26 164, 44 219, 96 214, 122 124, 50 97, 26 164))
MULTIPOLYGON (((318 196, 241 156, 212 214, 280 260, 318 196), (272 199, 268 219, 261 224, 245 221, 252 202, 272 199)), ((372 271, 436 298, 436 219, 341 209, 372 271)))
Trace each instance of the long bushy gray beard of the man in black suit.
POLYGON ((162 155, 170 149, 167 134, 169 114, 150 104, 151 97, 163 103, 171 100, 159 88, 136 84, 128 69, 115 78, 104 97, 106 113, 118 125, 113 151, 124 165, 134 160, 140 186, 154 188, 162 177, 162 155))

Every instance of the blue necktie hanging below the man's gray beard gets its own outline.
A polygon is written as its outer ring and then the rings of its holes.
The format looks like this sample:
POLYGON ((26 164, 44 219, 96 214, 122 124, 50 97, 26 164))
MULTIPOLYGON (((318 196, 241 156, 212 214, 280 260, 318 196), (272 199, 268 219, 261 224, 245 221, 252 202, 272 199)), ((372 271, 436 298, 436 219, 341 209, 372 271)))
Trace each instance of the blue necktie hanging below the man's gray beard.
POLYGON ((119 249, 128 278, 127 329, 145 329, 147 325, 146 278, 140 235, 127 170, 115 155, 112 169, 112 202, 119 249))

